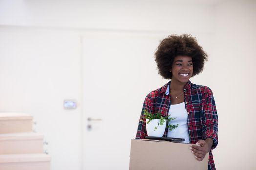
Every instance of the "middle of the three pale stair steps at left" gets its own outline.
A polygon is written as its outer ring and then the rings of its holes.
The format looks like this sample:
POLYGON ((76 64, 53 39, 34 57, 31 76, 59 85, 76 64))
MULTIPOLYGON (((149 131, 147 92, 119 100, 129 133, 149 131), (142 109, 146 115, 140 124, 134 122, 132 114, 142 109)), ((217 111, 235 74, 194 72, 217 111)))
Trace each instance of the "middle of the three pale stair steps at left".
POLYGON ((43 135, 34 132, 0 134, 0 154, 43 153, 43 135))

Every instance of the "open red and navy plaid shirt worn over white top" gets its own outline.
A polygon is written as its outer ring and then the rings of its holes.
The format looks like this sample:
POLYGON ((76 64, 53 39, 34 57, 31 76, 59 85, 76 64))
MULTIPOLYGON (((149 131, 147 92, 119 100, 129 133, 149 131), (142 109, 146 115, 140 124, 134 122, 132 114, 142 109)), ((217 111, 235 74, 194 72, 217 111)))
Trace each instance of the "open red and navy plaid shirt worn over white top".
MULTIPOLYGON (((171 81, 170 81, 171 82, 171 81)), ((147 136, 145 118, 143 110, 148 112, 160 112, 163 116, 168 115, 171 105, 171 96, 165 93, 170 82, 163 87, 150 92, 143 103, 141 117, 138 125, 136 139, 143 139, 147 136)), ((192 84, 190 81, 184 86, 184 102, 188 112, 188 131, 190 143, 195 144, 198 140, 206 138, 213 139, 214 149, 218 144, 218 115, 213 93, 210 88, 201 85, 192 84)), ((164 137, 167 137, 166 128, 164 137)), ((209 152, 208 170, 215 170, 213 154, 209 152)))

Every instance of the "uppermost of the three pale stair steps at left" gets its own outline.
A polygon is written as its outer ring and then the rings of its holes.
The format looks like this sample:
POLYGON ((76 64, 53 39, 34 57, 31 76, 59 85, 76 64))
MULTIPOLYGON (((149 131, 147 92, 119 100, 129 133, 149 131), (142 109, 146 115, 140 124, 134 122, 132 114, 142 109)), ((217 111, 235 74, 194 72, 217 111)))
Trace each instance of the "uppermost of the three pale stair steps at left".
POLYGON ((32 132, 32 119, 25 113, 0 113, 0 134, 32 132))

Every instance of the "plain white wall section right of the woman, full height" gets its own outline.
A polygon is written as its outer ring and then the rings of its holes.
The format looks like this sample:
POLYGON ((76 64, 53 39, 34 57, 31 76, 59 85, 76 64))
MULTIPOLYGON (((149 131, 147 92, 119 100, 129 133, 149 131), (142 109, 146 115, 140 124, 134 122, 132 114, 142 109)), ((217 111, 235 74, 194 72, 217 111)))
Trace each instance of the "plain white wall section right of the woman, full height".
POLYGON ((256 1, 223 3, 216 8, 214 72, 219 113, 221 170, 255 170, 256 1))

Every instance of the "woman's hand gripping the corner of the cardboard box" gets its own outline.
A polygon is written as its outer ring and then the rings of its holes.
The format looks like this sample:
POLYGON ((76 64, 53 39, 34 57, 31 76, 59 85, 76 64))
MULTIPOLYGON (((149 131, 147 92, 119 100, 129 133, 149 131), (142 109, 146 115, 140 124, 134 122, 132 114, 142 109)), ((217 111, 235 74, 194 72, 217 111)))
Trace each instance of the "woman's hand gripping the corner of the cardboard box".
POLYGON ((191 152, 194 153, 198 161, 202 161, 213 145, 213 139, 207 138, 205 140, 198 140, 195 145, 190 145, 191 152))

